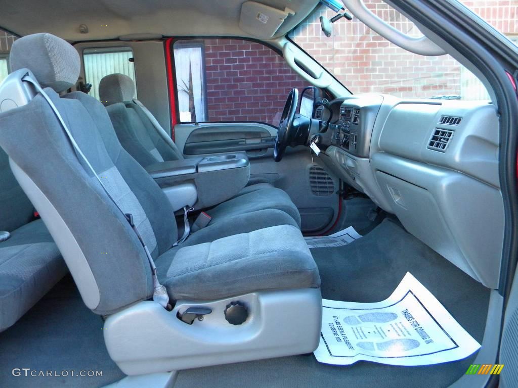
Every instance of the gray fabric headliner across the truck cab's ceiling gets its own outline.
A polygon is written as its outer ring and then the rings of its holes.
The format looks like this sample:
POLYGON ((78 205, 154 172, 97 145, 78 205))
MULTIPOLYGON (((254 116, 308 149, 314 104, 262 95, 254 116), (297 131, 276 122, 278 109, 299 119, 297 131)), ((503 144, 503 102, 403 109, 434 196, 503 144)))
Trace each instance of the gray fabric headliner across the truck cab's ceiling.
MULTIPOLYGON (((242 36, 241 5, 246 0, 2 0, 0 26, 18 35, 47 32, 69 41, 117 39, 123 35, 242 36), (86 24, 88 34, 79 32, 86 24)), ((318 0, 255 0, 296 14, 275 37, 303 21, 318 0)))

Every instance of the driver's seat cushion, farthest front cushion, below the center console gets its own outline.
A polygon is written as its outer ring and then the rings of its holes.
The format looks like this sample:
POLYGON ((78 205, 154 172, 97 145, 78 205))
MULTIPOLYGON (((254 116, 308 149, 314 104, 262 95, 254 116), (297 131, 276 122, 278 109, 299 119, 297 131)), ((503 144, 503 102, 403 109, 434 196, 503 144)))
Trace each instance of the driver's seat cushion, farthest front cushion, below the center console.
POLYGON ((206 213, 217 223, 226 217, 248 214, 258 210, 276 209, 289 214, 300 228, 300 213, 287 193, 268 184, 245 187, 237 196, 213 207, 206 213), (259 186, 256 189, 254 186, 259 186), (244 190, 244 191, 243 191, 244 190))

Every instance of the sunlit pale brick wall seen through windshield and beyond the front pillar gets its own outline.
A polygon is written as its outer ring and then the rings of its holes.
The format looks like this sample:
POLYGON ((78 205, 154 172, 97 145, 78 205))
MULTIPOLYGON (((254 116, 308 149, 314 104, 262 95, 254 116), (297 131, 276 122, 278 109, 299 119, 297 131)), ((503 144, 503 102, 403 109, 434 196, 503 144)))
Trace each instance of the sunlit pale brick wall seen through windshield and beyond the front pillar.
MULTIPOLYGON (((401 13, 381 0, 364 0, 381 19, 408 35, 423 34, 401 13)), ((516 41, 514 22, 518 0, 466 1, 500 31, 516 41), (491 3, 491 4, 490 4, 491 3)), ((356 18, 332 23, 326 37, 319 18, 330 19, 336 12, 319 7, 295 28, 289 37, 311 55, 352 93, 383 93, 402 98, 488 99, 486 88, 466 67, 450 55, 413 54, 389 42, 356 18)))

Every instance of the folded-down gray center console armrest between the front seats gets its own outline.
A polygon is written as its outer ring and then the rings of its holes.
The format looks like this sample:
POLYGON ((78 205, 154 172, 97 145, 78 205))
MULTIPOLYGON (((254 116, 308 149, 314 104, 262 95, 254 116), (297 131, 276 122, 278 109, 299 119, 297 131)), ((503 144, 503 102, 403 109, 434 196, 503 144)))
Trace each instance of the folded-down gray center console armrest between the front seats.
POLYGON ((245 154, 228 154, 154 163, 146 168, 175 211, 217 205, 247 185, 250 163, 245 154))

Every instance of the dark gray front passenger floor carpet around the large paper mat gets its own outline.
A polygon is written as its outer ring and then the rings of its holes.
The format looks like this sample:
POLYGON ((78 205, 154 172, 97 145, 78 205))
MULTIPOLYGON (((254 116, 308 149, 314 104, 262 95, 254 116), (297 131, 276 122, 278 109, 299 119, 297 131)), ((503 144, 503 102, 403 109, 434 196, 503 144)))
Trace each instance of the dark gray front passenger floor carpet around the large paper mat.
MULTIPOLYGON (((326 299, 377 302, 386 299, 411 272, 481 342, 490 290, 389 220, 352 244, 312 249, 326 299), (449 285, 449 287, 444 287, 449 285), (474 308, 473 300, 477 301, 474 308)), ((447 364, 400 367, 369 362, 351 366, 318 363, 299 355, 183 370, 175 388, 448 386, 462 376, 475 355, 447 364)))

